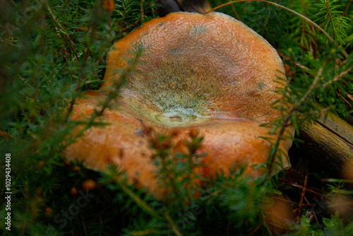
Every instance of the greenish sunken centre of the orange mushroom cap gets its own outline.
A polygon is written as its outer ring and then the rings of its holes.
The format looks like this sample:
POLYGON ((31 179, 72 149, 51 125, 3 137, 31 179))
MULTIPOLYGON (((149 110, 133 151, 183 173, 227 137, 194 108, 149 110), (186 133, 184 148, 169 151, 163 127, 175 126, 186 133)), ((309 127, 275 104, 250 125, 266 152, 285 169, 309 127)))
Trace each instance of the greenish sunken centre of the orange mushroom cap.
POLYGON ((167 126, 201 122, 215 110, 220 85, 201 66, 172 62, 153 71, 140 70, 125 92, 126 105, 140 117, 167 126))

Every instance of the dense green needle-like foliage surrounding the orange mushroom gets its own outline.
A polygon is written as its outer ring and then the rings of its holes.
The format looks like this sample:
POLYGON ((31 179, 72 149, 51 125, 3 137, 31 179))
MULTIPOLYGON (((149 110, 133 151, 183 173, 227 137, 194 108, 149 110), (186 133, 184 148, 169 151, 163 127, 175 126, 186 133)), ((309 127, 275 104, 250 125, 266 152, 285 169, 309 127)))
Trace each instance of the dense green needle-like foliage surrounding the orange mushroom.
MULTIPOLYGON (((201 189, 186 188, 191 179, 176 179, 194 166, 171 163, 197 158, 199 136, 190 136, 189 153, 177 156, 170 155, 170 147, 155 146, 156 165, 161 178, 174 183, 170 197, 175 201, 159 201, 127 186, 114 167, 97 173, 80 163, 67 163, 62 153, 78 138, 72 134, 78 124, 69 119, 76 98, 99 88, 112 44, 157 17, 152 0, 116 1, 112 12, 104 8, 106 2, 0 1, 2 235, 276 235, 282 230, 289 235, 353 235, 349 218, 326 214, 313 223, 307 211, 302 211, 299 223, 274 230, 265 209, 273 201, 270 194, 282 191, 276 179, 251 181, 234 170, 229 177, 210 179, 201 189), (6 153, 11 153, 11 231, 4 224, 6 153), (88 179, 96 186, 87 192, 83 184, 88 179), (191 198, 196 190, 201 199, 191 198), (88 204, 66 218, 65 211, 77 205, 82 194, 92 196, 88 204)), ((211 5, 225 2, 215 0, 211 5)), ((352 1, 273 2, 314 20, 334 41, 303 18, 268 3, 246 1, 219 9, 256 30, 282 56, 290 83, 282 81, 289 93, 283 94, 285 105, 276 104, 284 115, 275 129, 289 123, 299 129, 322 110, 352 121, 352 1)), ((122 72, 126 79, 128 72, 122 72)), ((119 94, 120 86, 109 99, 119 94)), ((95 119, 100 114, 88 119, 85 128, 103 125, 95 119)), ((267 164, 270 169, 272 163, 267 164)))

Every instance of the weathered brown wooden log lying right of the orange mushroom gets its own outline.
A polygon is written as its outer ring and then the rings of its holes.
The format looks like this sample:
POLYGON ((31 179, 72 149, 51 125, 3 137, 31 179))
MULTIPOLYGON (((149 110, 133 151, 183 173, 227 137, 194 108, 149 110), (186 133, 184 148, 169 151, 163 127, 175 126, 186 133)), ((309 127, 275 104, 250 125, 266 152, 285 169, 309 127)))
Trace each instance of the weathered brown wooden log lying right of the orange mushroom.
POLYGON ((308 161, 311 170, 343 177, 343 168, 353 163, 353 126, 334 114, 304 125, 297 137, 304 143, 293 146, 289 156, 308 161))

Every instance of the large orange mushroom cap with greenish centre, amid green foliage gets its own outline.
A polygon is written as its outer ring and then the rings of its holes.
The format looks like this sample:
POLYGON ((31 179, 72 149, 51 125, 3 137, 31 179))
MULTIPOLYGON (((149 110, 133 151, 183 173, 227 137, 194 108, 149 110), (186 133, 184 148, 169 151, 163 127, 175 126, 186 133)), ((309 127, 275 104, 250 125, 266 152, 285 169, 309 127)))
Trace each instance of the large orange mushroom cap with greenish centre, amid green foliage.
MULTIPOLYGON (((268 160, 271 146, 263 137, 270 129, 260 126, 281 117, 273 102, 285 77, 275 49, 244 23, 223 13, 170 13, 156 18, 116 42, 107 57, 107 70, 100 90, 109 90, 121 78, 121 69, 142 48, 119 98, 119 106, 105 110, 103 128, 92 127, 84 138, 68 147, 66 157, 84 160, 94 170, 108 163, 126 171, 136 187, 147 187, 163 198, 144 130, 150 127, 173 134, 175 152, 191 130, 204 137, 200 153, 204 177, 246 165, 245 174, 263 175, 265 168, 253 168, 268 160)), ((88 93, 78 100, 71 119, 90 117, 103 93, 88 93)), ((294 130, 287 129, 293 136, 294 130)), ((280 143, 282 158, 276 163, 290 167, 287 152, 292 139, 280 143)), ((277 166, 278 167, 278 166, 277 166)))

